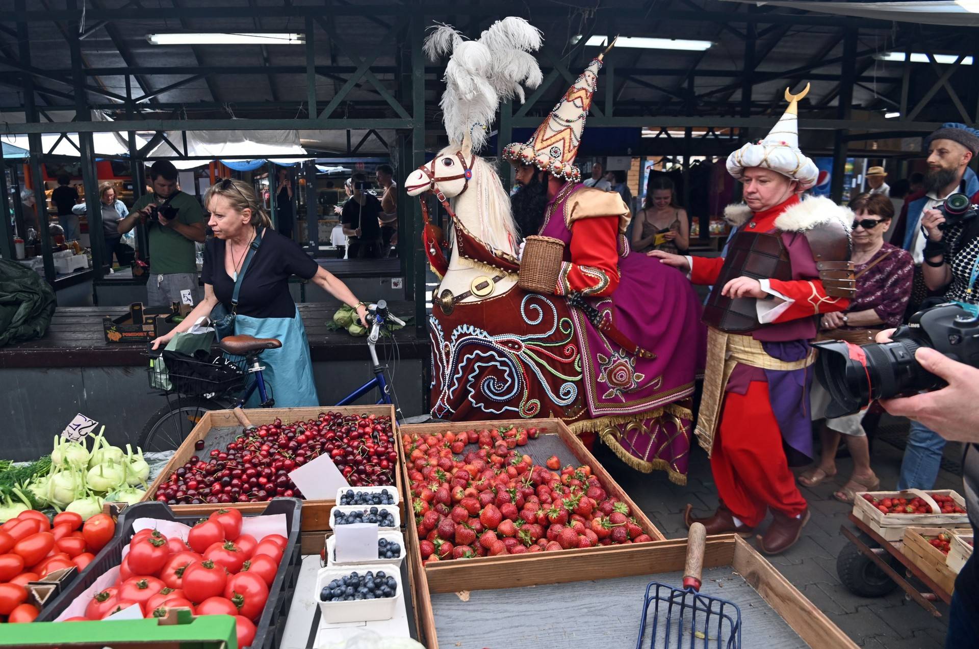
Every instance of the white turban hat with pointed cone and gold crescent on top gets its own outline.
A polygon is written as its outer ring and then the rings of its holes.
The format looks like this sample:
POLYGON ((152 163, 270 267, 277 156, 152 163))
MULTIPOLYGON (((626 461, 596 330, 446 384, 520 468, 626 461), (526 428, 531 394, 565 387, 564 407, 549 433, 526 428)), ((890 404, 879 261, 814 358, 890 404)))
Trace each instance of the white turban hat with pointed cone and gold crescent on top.
POLYGON ((749 142, 727 156, 727 173, 740 180, 744 170, 765 167, 799 181, 799 191, 805 192, 819 177, 816 163, 799 150, 799 100, 809 93, 809 84, 798 95, 785 89, 789 107, 772 127, 769 135, 758 142, 749 142))

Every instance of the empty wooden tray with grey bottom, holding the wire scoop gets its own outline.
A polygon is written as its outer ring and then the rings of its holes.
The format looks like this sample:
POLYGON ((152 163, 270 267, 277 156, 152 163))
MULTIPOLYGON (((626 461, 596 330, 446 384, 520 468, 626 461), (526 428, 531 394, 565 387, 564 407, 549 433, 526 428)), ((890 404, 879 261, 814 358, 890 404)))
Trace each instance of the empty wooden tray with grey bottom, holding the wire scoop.
MULTIPOLYGON (((635 646, 646 585, 680 586, 685 558, 686 540, 671 540, 430 564, 414 572, 420 640, 429 649, 635 646)), ((740 608, 742 646, 857 647, 736 536, 709 538, 704 568, 701 592, 740 608)))

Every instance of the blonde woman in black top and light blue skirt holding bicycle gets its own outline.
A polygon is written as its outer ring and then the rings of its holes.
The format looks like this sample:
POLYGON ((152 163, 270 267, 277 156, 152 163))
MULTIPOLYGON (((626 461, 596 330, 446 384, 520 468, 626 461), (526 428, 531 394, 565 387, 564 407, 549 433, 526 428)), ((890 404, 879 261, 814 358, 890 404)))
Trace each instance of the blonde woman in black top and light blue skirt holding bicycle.
POLYGON ((235 281, 242 273, 249 247, 253 240, 261 238, 244 271, 235 311, 235 333, 282 341, 280 349, 265 350, 261 355, 265 380, 275 390, 276 406, 319 406, 309 343, 303 319, 289 292, 289 278, 297 275, 313 281, 341 302, 355 307, 361 324, 365 324, 366 305, 354 297, 347 284, 326 272, 303 252, 299 244, 270 227, 268 215, 246 183, 221 181, 205 194, 204 204, 210 212, 208 226, 214 234, 204 250, 201 277, 205 298, 184 322, 157 338, 154 349, 169 342, 175 333, 186 331, 201 317, 210 315, 218 302, 231 309, 235 281))

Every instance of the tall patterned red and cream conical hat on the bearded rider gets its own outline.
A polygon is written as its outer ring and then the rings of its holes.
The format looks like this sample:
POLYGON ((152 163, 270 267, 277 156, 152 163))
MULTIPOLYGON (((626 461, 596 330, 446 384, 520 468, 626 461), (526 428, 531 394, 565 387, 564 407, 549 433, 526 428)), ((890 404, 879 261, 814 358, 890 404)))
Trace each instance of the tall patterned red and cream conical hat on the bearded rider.
POLYGON ((514 164, 534 164, 557 178, 579 182, 582 171, 575 166, 575 156, 582 143, 584 120, 598 87, 598 70, 602 68, 602 56, 591 63, 575 79, 561 101, 543 123, 537 127, 527 142, 515 142, 506 146, 503 158, 514 164))

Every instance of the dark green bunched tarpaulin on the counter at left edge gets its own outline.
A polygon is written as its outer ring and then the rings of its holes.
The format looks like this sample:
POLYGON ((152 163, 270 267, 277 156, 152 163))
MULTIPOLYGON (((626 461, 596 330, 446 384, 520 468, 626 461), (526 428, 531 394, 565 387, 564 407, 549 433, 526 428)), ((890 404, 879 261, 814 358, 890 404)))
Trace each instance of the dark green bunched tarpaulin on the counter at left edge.
POLYGON ((54 289, 41 276, 0 259, 0 347, 44 335, 56 304, 54 289))

